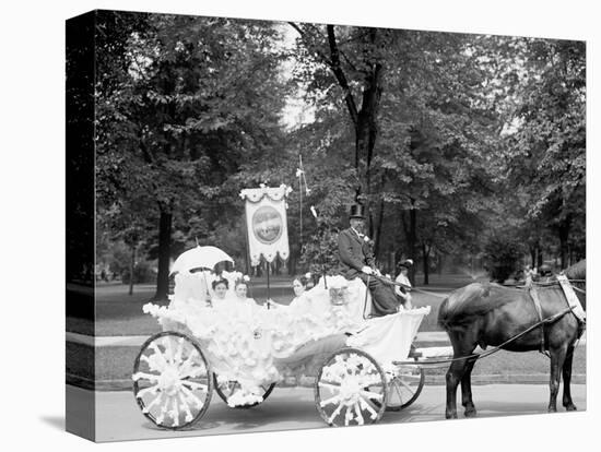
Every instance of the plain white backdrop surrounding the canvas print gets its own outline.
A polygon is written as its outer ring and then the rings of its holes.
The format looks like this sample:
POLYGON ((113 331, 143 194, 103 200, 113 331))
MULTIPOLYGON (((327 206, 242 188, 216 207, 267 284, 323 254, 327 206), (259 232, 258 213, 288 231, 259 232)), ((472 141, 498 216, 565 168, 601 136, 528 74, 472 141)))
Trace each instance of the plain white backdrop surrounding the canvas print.
MULTIPOLYGON (((586 38, 589 40, 589 124, 599 118, 599 90, 596 88, 593 76, 594 68, 601 61, 599 53, 599 35, 596 22, 594 7, 591 3, 574 1, 565 2, 529 2, 507 1, 503 4, 493 3, 491 9, 481 8, 480 2, 435 2, 406 3, 398 8, 390 8, 378 1, 370 2, 373 8, 362 8, 360 4, 345 2, 341 8, 335 3, 303 2, 302 5, 286 3, 280 7, 257 1, 250 3, 231 2, 224 0, 219 4, 203 4, 203 12, 210 14, 298 19, 318 21, 323 19, 337 20, 339 23, 369 23, 389 26, 406 26, 421 29, 455 29, 470 32, 494 32, 502 34, 521 34, 539 36, 562 36, 569 38, 586 38)), ((8 362, 16 364, 13 372, 2 372, 2 382, 14 391, 5 394, 5 404, 13 409, 3 412, 11 428, 4 432, 8 443, 47 445, 54 443, 63 450, 96 449, 97 445, 87 444, 79 438, 64 435, 62 431, 64 413, 64 394, 54 389, 60 388, 64 380, 64 313, 60 308, 63 299, 63 205, 60 202, 64 197, 63 162, 57 158, 58 150, 64 147, 63 136, 63 52, 64 36, 61 26, 66 17, 79 14, 96 7, 107 9, 131 8, 137 10, 165 11, 162 1, 67 1, 60 4, 39 3, 34 7, 36 14, 32 14, 31 3, 12 4, 4 19, 7 26, 2 28, 5 43, 14 44, 14 36, 19 36, 19 45, 7 46, 7 59, 14 61, 19 70, 4 71, 2 74, 5 86, 12 87, 7 92, 7 108, 3 114, 12 126, 5 129, 2 136, 7 150, 14 150, 7 155, 7 165, 0 168, 3 175, 2 192, 7 212, 17 212, 17 221, 4 223, 7 241, 4 251, 10 259, 2 262, 2 272, 10 275, 7 279, 5 318, 23 319, 27 304, 32 304, 35 316, 26 321, 5 322, 2 330, 3 337, 10 338, 4 349, 8 362), (23 22, 14 17, 28 17, 27 29, 23 33, 23 22), (9 35, 11 36, 9 38, 9 35), (32 58, 35 56, 35 58, 32 58), (44 68, 44 73, 40 73, 44 68), (24 102, 27 100, 27 102, 24 102), (31 117, 31 107, 35 105, 36 133, 32 133, 32 121, 21 121, 31 117), (25 138, 25 139, 24 139, 25 138), (51 150, 52 152, 49 152, 51 150), (33 162, 37 162, 33 165, 33 162), (15 170, 20 168, 21 170, 15 170), (24 177, 24 175, 27 175, 24 177), (36 183, 32 183, 35 181, 36 183), (26 206, 24 209, 24 206, 26 206), (45 233, 40 231, 44 225, 45 233), (44 271, 32 275, 25 270, 32 266, 32 255, 42 255, 49 260, 44 264, 44 271), (16 271, 15 271, 16 269, 16 271), (37 292, 32 297, 24 296, 24 288, 35 287, 37 292), (28 333, 24 334, 27 330, 28 333), (34 355, 35 359, 30 359, 34 355), (44 391, 23 391, 25 388, 40 388, 44 381, 44 391), (54 389, 52 389, 54 388, 54 389), (24 420, 24 421, 22 421, 24 420)), ((169 2, 169 11, 181 13, 198 13, 196 2, 169 2)), ((599 143, 599 133, 589 128, 589 147, 594 148, 599 143)), ((598 167, 598 157, 589 155, 590 165, 588 177, 589 189, 593 190, 594 168, 598 167)), ((589 230, 598 219, 597 207, 589 197, 589 230)), ((597 269, 593 251, 598 249, 594 235, 589 236, 589 265, 597 269)), ((8 277, 8 276, 7 276, 8 277)), ((596 298, 596 286, 589 286, 590 296, 596 298)), ((594 331, 596 308, 589 306, 590 331, 588 336, 589 348, 596 354, 594 331)), ((599 366, 593 360, 588 366, 589 378, 597 380, 599 366)), ((590 406, 587 413, 558 416, 529 416, 528 418, 497 418, 475 421, 411 424, 402 426, 378 426, 369 428, 374 435, 364 429, 342 431, 316 430, 307 435, 305 431, 291 431, 280 435, 241 435, 229 437, 203 438, 201 444, 212 448, 245 448, 268 450, 286 448, 287 450, 306 450, 311 447, 341 447, 353 444, 354 448, 366 449, 373 447, 374 438, 390 441, 404 448, 431 449, 446 448, 450 443, 461 442, 466 450, 481 450, 482 444, 491 451, 505 451, 508 447, 546 450, 565 450, 574 445, 574 436, 577 435, 582 444, 593 443, 596 416, 599 407, 599 391, 596 385, 589 385, 588 397, 590 406), (476 427, 476 428, 474 428, 476 427), (433 435, 433 428, 435 435, 433 435), (569 433, 563 432, 569 430, 569 433), (498 431, 510 432, 498 437, 498 431), (556 431, 557 436, 532 433, 533 431, 556 431), (470 438, 466 442, 466 438, 470 438), (266 444, 269 438, 269 444, 266 444), (491 441, 495 438, 495 441, 491 441)), ((113 444, 115 450, 163 450, 165 445, 177 447, 181 450, 198 449, 198 439, 178 441, 143 441, 113 444)))

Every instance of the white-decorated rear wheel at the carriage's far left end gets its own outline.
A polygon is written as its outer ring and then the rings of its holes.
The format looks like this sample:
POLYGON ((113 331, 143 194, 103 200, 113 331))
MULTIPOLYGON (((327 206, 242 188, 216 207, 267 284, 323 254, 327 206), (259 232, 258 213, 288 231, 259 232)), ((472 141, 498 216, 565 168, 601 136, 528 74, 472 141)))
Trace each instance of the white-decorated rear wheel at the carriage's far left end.
POLYGON ((142 414, 161 428, 179 430, 199 420, 211 402, 213 380, 196 341, 158 333, 133 365, 133 394, 142 414))

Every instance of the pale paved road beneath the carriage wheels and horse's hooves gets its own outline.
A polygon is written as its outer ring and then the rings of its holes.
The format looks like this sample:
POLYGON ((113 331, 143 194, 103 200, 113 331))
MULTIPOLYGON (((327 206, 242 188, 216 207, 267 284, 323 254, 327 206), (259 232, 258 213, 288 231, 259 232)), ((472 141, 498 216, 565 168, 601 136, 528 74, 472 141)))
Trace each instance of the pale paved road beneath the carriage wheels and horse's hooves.
MULTIPOLYGON (((83 397, 86 392, 71 385, 67 386, 67 391, 74 399, 83 397)), ((479 417, 546 413, 549 396, 546 384, 474 385, 473 393, 479 417)), ((578 408, 585 409, 586 386, 574 384, 573 396, 578 408)), ((214 394, 209 411, 192 430, 174 433, 160 430, 148 421, 140 413, 130 392, 97 392, 97 440, 117 441, 323 428, 326 425, 317 414, 313 401, 311 389, 276 388, 259 406, 250 409, 232 409, 214 394)), ((381 423, 440 420, 444 418, 444 401, 443 385, 426 386, 412 406, 404 412, 386 413, 381 423)))

